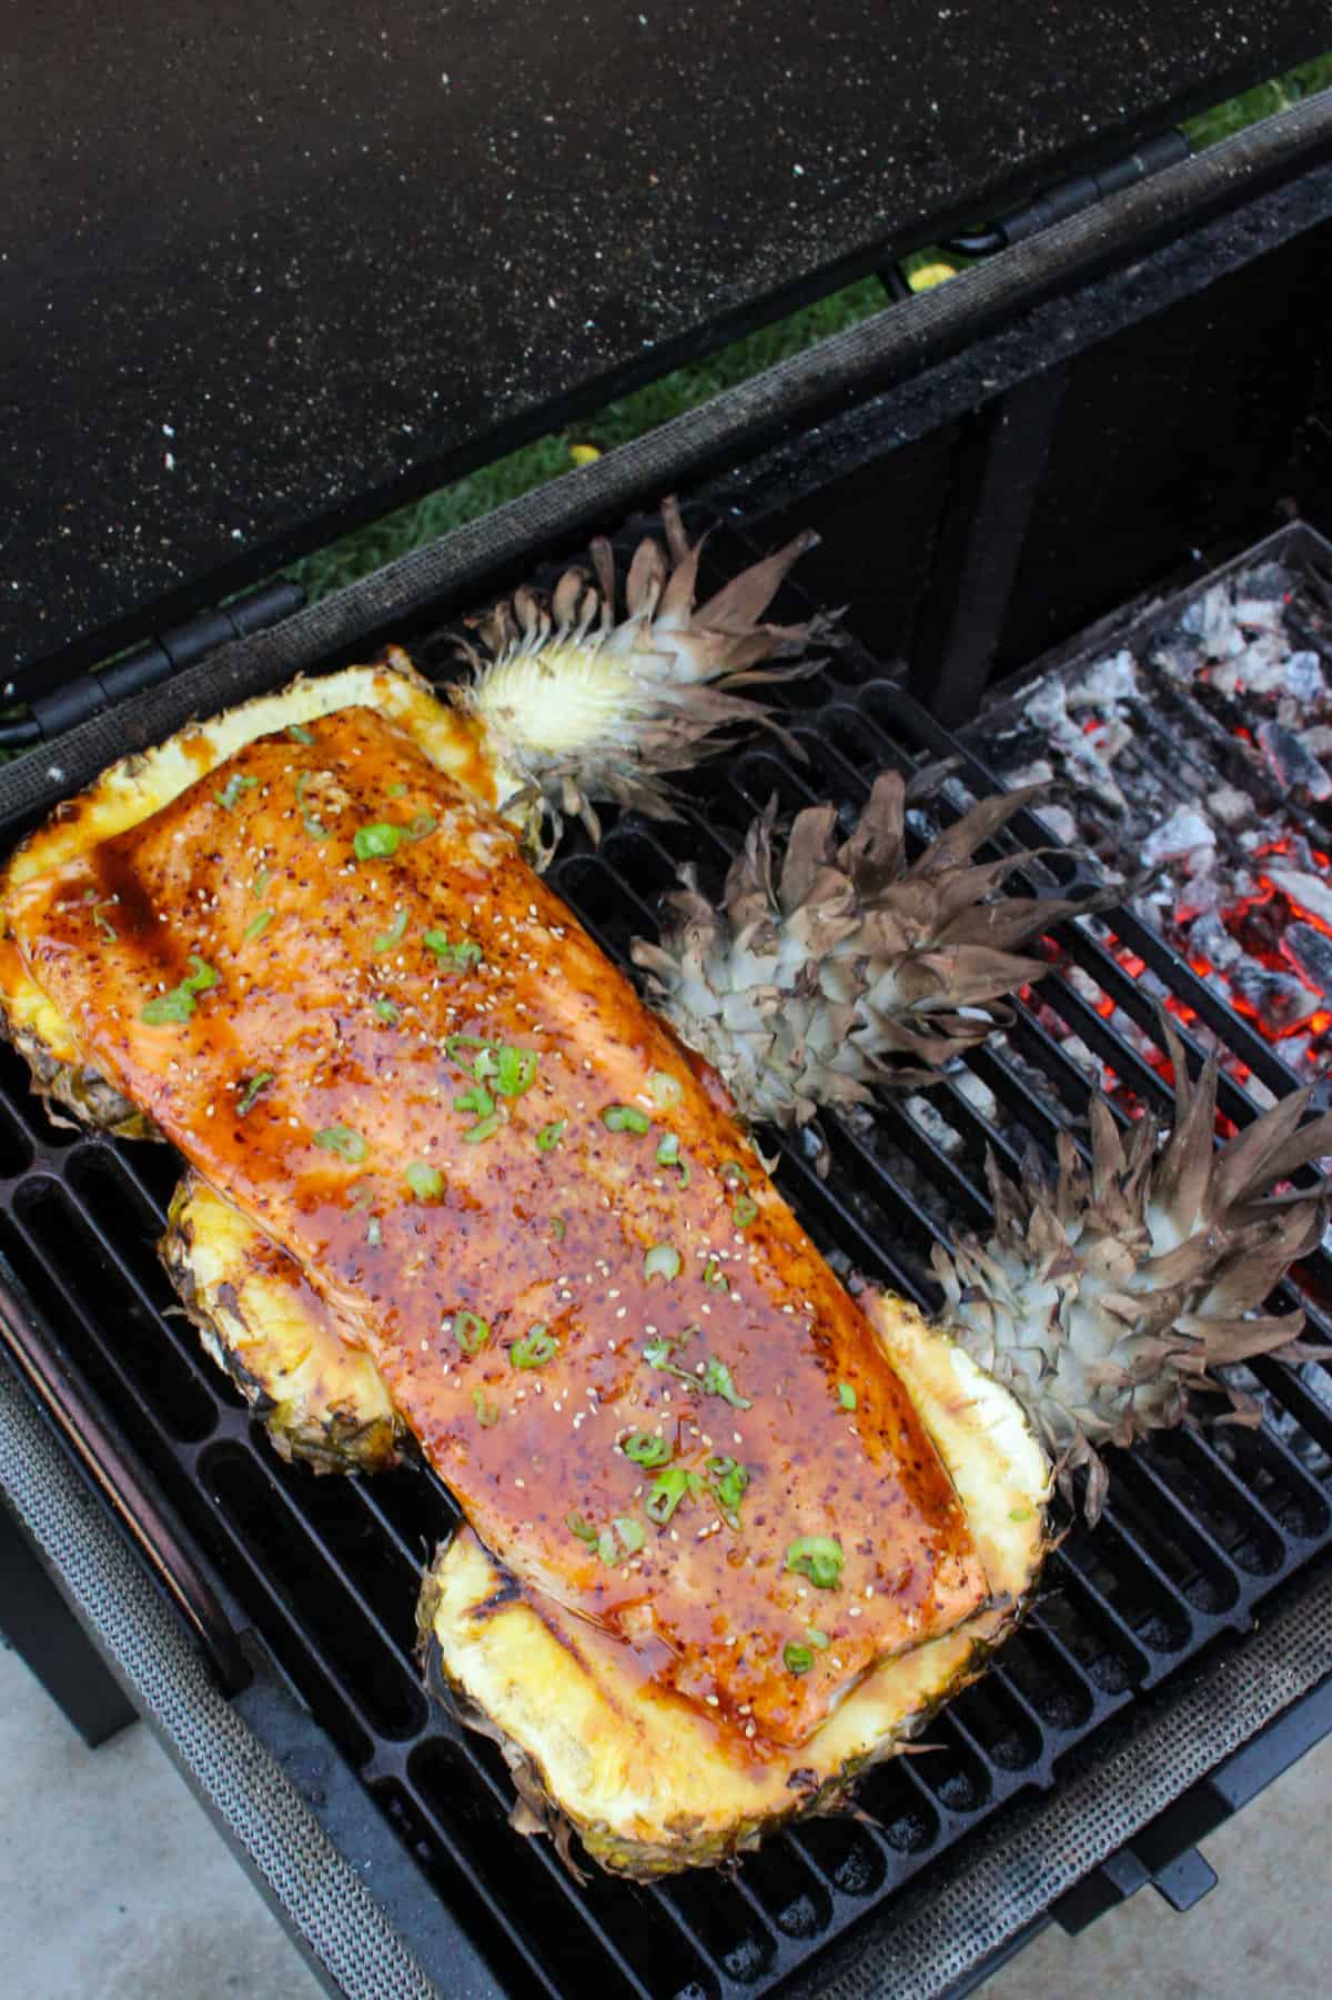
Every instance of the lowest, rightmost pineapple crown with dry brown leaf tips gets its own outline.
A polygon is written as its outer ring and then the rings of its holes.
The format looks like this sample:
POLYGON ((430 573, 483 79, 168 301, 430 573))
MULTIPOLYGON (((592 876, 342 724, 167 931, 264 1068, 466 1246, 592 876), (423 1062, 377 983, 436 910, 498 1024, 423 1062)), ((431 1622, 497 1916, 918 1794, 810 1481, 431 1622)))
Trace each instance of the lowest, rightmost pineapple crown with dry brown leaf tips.
POLYGON ((1308 1352, 1302 1312, 1260 1308, 1320 1240, 1326 1192, 1272 1190, 1332 1152, 1332 1114, 1300 1126, 1300 1090, 1216 1148, 1216 1056, 1190 1082, 1164 1018, 1162 1034, 1176 1078, 1164 1144, 1152 1112, 1124 1138, 1096 1096, 1090 1162, 1066 1132, 1054 1182, 1036 1158, 1020 1180, 990 1158, 988 1242, 934 1252, 950 1330, 1024 1404, 1070 1502, 1086 1468, 1092 1524, 1106 1498, 1102 1446, 1192 1418, 1204 1392, 1228 1396, 1232 1420, 1258 1422, 1258 1404, 1212 1370, 1308 1352))

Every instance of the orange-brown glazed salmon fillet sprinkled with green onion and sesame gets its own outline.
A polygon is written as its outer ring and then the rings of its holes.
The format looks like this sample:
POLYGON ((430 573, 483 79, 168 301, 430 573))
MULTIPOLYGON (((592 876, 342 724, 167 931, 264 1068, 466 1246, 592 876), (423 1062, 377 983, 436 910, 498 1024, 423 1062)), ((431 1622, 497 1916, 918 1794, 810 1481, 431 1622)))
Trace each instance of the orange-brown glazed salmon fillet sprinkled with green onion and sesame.
POLYGON ((82 1060, 364 1348, 520 1584, 800 1744, 988 1584, 710 1076, 392 722, 246 744, 14 886, 82 1060))

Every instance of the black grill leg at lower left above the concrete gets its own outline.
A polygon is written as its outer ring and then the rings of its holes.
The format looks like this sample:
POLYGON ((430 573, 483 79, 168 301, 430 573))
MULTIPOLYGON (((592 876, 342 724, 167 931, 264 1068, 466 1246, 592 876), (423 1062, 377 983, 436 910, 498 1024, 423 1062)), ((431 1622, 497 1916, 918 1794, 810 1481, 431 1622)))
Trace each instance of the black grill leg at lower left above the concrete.
POLYGON ((102 1666, 32 1542, 0 1496, 0 1634, 64 1710, 90 1750, 134 1722, 134 1708, 102 1666))

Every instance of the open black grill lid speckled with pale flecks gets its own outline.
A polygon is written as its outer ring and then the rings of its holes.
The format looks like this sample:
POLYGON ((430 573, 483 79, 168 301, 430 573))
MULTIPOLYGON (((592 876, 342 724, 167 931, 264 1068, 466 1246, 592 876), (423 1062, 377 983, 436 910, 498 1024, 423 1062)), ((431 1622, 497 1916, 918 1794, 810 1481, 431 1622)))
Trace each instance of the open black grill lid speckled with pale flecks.
POLYGON ((6 8, 8 670, 1326 44, 1318 0, 6 8))

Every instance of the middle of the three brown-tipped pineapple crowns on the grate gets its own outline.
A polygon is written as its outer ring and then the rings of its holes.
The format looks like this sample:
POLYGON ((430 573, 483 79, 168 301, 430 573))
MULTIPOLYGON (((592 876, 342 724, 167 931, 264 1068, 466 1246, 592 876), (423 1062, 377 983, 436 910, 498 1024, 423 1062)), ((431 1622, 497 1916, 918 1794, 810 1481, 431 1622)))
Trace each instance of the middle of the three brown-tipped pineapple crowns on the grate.
POLYGON ((820 1106, 860 1116, 880 1088, 932 1082, 1048 970, 1022 946, 1096 908, 1002 894, 1030 854, 972 860, 1032 796, 982 800, 914 862, 898 772, 876 780, 846 840, 834 806, 810 806, 782 842, 774 800, 720 906, 684 868, 660 944, 634 944, 650 1002, 754 1120, 810 1128, 820 1106))

